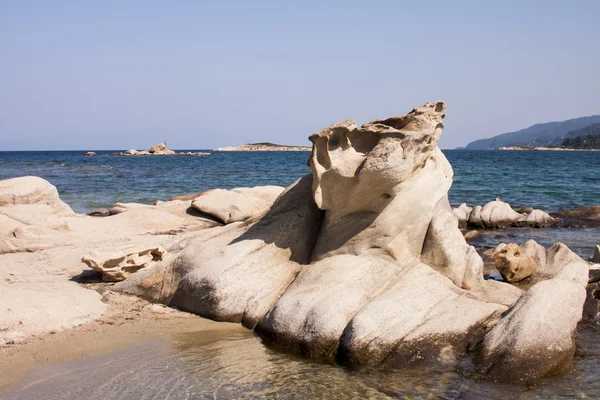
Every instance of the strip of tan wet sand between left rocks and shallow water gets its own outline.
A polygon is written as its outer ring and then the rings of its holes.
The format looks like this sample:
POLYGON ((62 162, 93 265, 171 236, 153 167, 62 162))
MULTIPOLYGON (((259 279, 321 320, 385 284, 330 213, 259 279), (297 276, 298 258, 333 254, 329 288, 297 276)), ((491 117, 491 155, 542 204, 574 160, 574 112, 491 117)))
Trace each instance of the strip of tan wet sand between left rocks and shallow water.
POLYGON ((247 331, 239 324, 214 322, 130 296, 109 297, 110 312, 100 319, 0 347, 0 394, 34 367, 86 359, 174 334, 197 332, 220 337, 247 331))

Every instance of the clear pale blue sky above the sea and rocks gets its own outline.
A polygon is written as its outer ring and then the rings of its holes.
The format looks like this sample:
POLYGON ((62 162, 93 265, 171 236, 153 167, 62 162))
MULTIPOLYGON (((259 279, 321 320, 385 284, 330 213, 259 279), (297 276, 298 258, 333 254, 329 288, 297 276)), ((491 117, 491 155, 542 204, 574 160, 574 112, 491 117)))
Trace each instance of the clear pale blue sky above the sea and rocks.
POLYGON ((438 99, 442 148, 600 114, 600 1, 0 0, 0 150, 308 144, 438 99))

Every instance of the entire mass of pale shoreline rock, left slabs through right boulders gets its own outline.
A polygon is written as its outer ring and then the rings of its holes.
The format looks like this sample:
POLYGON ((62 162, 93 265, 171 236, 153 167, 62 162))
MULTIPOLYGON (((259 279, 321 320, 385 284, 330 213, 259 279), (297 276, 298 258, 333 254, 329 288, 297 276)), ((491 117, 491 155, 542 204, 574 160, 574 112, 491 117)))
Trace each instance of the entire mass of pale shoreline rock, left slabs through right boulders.
POLYGON ((445 115, 438 101, 320 130, 311 173, 288 188, 119 203, 103 218, 74 213, 41 178, 0 181, 0 348, 175 308, 349 366, 466 356, 470 373, 501 381, 567 372, 584 305, 598 314, 591 264, 561 243, 508 243, 492 254, 504 279, 484 277, 459 220, 493 229, 554 219, 500 200, 453 210, 453 170, 438 147, 445 115), (89 268, 99 281, 77 283, 89 268))

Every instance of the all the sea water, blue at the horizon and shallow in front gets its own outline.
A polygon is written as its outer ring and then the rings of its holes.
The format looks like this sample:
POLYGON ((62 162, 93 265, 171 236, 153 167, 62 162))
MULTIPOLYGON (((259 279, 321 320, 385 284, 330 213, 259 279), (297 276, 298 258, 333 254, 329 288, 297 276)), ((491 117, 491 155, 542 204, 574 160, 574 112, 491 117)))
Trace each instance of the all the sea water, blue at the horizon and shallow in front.
MULTIPOLYGON (((194 150, 196 151, 196 150, 194 150)), ((308 152, 212 152, 206 157, 116 157, 114 151, 0 152, 0 180, 36 175, 54 184, 78 212, 116 202, 152 204, 213 188, 287 186, 310 172, 308 152)), ((483 205, 496 197, 514 208, 548 212, 600 204, 600 152, 445 150, 454 169, 453 205, 483 205)), ((600 243, 598 228, 512 228, 484 232, 478 250, 500 242, 561 241, 582 257, 600 243)), ((42 366, 42 380, 23 381, 7 399, 564 399, 600 398, 600 328, 579 326, 569 373, 536 385, 504 384, 457 366, 349 370, 271 350, 251 331, 207 342, 173 335, 126 350, 42 366), (54 396, 56 394, 56 396, 54 396), (44 397, 47 395, 48 397, 44 397), (42 397, 39 397, 42 396, 42 397)), ((37 375, 33 375, 37 376, 37 375)), ((2 394, 0 394, 2 397, 2 394)))

